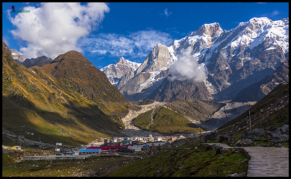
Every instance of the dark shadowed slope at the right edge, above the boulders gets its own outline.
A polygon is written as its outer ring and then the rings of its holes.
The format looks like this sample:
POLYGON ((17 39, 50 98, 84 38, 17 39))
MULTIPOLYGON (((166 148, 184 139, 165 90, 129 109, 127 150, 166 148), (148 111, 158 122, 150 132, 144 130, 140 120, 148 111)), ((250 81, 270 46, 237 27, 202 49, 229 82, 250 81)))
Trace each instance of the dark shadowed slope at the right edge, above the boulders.
MULTIPOLYGON (((280 83, 268 95, 250 108, 252 129, 269 129, 289 122, 289 84, 280 83), (283 106, 284 105, 284 106, 283 106), (254 125, 254 126, 253 126, 254 125)), ((240 132, 249 128, 249 111, 228 122, 231 131, 240 132), (244 127, 244 128, 243 128, 244 127)), ((218 134, 226 133, 227 124, 218 128, 218 134)), ((228 133, 228 132, 227 132, 228 133)))

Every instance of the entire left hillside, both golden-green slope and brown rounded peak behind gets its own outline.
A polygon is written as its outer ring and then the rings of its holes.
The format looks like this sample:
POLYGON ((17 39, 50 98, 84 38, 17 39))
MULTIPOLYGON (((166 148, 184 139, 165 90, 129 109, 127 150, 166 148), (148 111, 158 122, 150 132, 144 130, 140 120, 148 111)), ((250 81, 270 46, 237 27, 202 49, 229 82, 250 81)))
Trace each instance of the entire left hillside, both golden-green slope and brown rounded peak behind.
MULTIPOLYGON (((63 61, 66 56, 73 60, 74 55, 86 60, 74 51, 65 54, 63 61)), ((112 133, 120 134, 119 130, 124 127, 120 118, 128 113, 129 103, 94 66, 90 66, 89 72, 73 66, 75 71, 83 71, 76 74, 70 66, 55 62, 46 68, 27 69, 13 60, 9 48, 2 42, 3 129, 35 141, 64 145, 81 145, 111 137, 112 133), (52 70, 50 67, 59 69, 58 73, 48 73, 52 70), (66 76, 62 77, 64 73, 66 76), (78 78, 76 75, 80 74, 91 76, 78 78), (78 86, 82 86, 79 91, 78 86)), ((2 141, 8 145, 12 139, 3 135, 2 141)))

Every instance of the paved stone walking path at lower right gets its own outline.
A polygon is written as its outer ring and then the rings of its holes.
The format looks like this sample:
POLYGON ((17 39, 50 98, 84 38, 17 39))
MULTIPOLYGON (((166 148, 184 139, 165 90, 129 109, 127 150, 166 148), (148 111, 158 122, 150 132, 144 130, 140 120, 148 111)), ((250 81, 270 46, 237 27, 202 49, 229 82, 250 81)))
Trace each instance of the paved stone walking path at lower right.
MULTIPOLYGON (((208 143, 212 144, 214 143, 208 143)), ((220 146, 231 148, 226 144, 220 146)), ((289 148, 242 147, 242 149, 251 156, 247 177, 289 177, 289 148)))

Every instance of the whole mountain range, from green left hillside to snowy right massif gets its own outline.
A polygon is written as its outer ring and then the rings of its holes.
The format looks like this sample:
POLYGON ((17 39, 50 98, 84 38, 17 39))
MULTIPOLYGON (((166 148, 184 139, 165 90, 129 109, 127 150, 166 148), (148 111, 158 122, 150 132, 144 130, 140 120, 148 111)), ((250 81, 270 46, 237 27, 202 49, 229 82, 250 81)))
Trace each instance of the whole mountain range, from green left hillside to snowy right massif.
POLYGON ((235 119, 289 83, 288 42, 289 18, 252 18, 228 31, 205 24, 154 46, 143 63, 121 57, 100 70, 75 50, 20 64, 21 54, 2 42, 2 143, 22 136, 82 145, 125 136, 128 116, 161 134, 218 128, 223 108, 235 119))

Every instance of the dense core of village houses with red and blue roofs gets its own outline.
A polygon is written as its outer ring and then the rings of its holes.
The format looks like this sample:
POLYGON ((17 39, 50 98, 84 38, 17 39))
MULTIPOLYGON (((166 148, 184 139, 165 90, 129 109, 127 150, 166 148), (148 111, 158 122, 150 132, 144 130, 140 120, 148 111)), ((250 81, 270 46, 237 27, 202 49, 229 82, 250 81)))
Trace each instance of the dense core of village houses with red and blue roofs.
POLYGON ((150 146, 165 145, 166 143, 173 142, 177 139, 184 139, 183 135, 180 136, 157 136, 153 137, 151 134, 148 137, 126 137, 126 138, 111 138, 105 139, 104 144, 119 142, 120 145, 102 146, 102 147, 89 147, 87 149, 79 149, 79 155, 97 155, 102 153, 113 153, 116 151, 129 152, 141 151, 142 148, 150 146))

